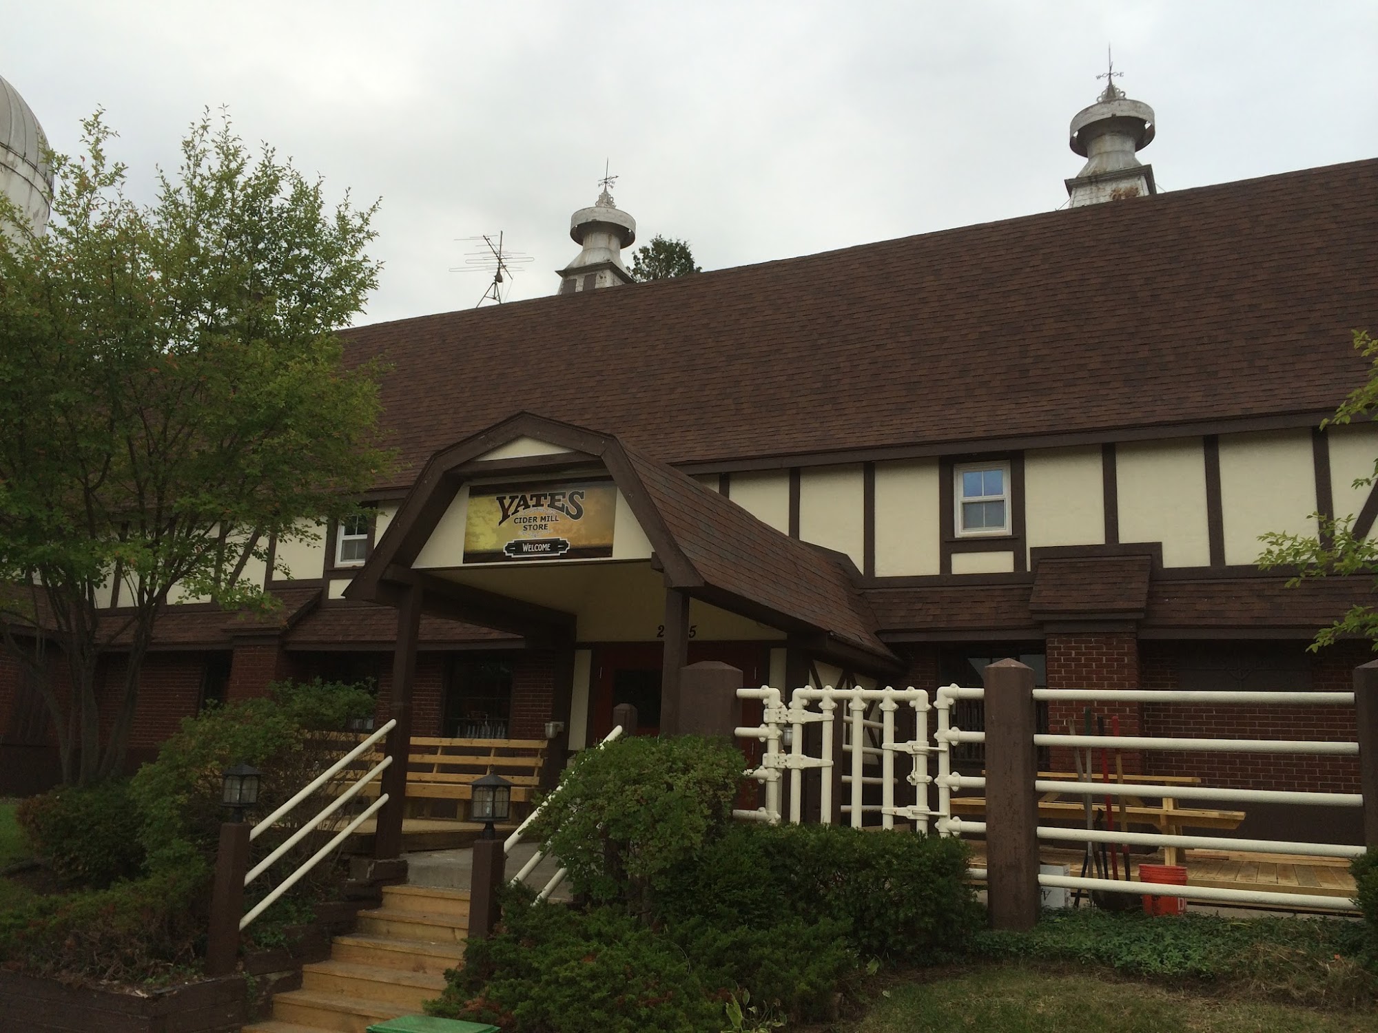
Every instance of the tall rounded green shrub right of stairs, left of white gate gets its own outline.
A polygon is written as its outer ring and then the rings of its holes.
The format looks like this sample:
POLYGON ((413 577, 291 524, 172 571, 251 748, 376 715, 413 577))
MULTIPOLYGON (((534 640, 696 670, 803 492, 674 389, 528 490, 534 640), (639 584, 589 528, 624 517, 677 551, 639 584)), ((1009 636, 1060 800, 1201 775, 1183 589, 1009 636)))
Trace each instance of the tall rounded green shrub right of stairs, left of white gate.
POLYGON ((586 749, 532 835, 550 843, 576 890, 646 915, 649 894, 732 820, 744 769, 736 748, 693 735, 586 749))

